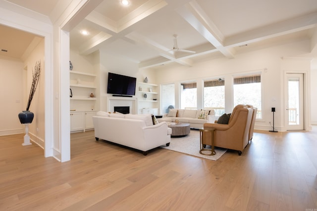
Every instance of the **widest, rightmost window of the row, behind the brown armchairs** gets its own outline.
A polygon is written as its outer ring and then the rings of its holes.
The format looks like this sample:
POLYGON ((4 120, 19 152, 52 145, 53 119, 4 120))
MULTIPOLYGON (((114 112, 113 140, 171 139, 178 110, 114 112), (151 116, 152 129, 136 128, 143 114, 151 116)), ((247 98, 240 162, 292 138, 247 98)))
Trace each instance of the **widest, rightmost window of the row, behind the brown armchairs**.
POLYGON ((261 112, 261 75, 241 76, 234 78, 233 103, 250 104, 258 108, 257 118, 262 118, 261 112))

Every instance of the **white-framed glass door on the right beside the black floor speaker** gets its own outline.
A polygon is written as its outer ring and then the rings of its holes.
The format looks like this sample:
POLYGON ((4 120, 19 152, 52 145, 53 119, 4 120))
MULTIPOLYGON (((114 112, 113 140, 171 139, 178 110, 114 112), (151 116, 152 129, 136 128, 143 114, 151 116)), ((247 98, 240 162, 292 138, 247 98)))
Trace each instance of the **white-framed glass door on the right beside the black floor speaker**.
POLYGON ((286 130, 304 130, 304 74, 286 74, 286 130))

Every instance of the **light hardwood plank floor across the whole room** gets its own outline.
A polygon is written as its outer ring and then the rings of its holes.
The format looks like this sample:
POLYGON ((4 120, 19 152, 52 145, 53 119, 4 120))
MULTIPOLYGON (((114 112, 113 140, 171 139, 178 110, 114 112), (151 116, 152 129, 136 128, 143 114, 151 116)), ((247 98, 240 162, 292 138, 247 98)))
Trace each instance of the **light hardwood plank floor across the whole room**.
POLYGON ((71 161, 0 136, 0 210, 317 211, 317 131, 256 131, 241 156, 147 156, 71 134, 71 161))

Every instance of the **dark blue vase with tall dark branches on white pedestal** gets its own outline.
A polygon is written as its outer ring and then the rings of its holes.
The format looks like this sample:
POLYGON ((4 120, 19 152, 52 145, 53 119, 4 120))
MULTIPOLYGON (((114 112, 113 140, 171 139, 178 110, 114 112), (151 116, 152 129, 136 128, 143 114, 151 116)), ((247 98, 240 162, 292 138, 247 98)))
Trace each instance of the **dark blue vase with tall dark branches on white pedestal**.
POLYGON ((31 124, 34 118, 34 113, 29 111, 35 90, 39 84, 41 74, 41 60, 37 61, 34 67, 34 71, 32 70, 32 85, 30 90, 30 95, 28 99, 28 104, 26 106, 26 110, 19 113, 19 120, 21 124, 31 124))

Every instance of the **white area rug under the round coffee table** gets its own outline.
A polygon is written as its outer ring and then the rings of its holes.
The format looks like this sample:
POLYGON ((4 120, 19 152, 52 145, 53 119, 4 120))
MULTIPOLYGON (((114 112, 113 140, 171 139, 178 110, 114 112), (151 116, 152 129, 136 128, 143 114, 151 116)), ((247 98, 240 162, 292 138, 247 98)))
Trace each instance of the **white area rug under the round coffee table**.
MULTIPOLYGON (((199 153, 200 150, 200 139, 199 139, 199 130, 190 130, 190 133, 185 137, 172 137, 170 140, 170 144, 167 147, 166 145, 160 146, 164 149, 173 150, 176 152, 185 153, 188 155, 193 155, 200 158, 206 158, 209 160, 216 161, 218 160, 227 150, 222 148, 215 148, 215 155, 208 156, 202 155, 199 153)), ((209 153, 209 151, 205 151, 209 153)))

